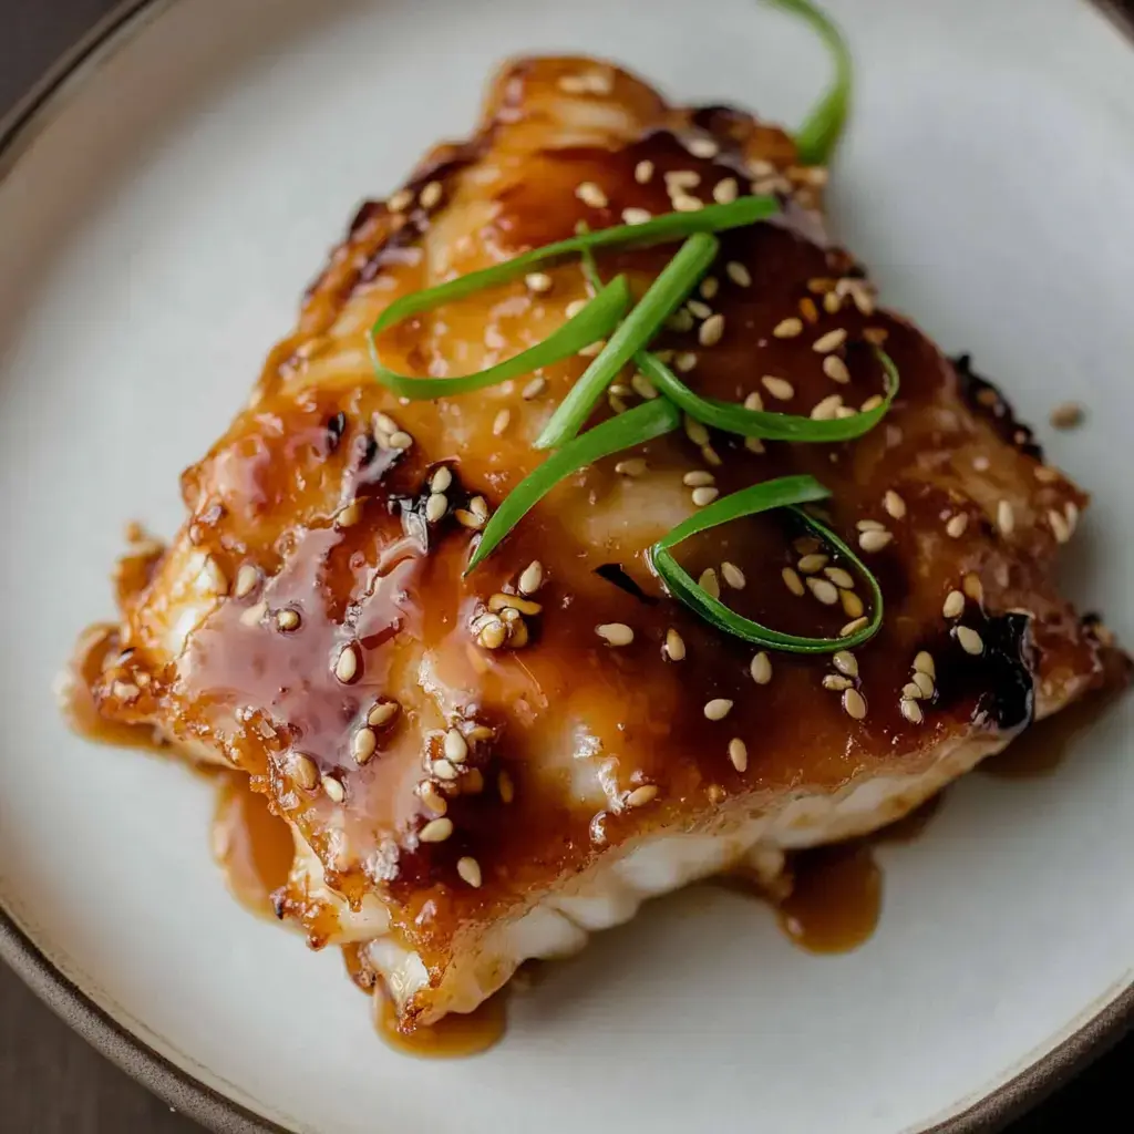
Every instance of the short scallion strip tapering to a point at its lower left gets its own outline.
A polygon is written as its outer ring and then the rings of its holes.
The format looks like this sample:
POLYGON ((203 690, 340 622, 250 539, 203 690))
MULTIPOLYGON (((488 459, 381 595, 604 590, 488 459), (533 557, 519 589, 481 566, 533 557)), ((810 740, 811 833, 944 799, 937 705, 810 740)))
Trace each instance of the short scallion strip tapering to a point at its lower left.
POLYGON ((565 476, 593 465, 612 452, 642 445, 669 433, 682 422, 682 415, 665 398, 646 401, 587 430, 582 437, 568 441, 553 452, 539 468, 533 469, 516 485, 496 510, 484 528, 481 542, 465 568, 467 575, 481 560, 490 556, 500 541, 540 502, 565 476))

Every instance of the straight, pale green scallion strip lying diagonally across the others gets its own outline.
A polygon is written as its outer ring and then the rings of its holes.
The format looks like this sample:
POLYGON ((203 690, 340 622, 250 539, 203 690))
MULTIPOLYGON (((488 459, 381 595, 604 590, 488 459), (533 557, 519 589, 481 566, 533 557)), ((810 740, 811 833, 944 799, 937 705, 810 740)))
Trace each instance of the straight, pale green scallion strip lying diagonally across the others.
POLYGON ((682 245, 583 376, 559 403, 543 432, 535 439, 536 449, 558 448, 578 433, 591 416, 595 401, 602 397, 602 391, 685 302, 709 270, 719 247, 717 237, 708 232, 697 232, 682 245))

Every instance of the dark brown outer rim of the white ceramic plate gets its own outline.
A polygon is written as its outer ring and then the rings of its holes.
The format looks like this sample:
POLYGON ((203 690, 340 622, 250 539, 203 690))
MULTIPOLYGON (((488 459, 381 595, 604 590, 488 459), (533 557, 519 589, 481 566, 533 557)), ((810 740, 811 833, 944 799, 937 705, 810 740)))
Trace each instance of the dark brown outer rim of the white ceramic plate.
MULTIPOLYGON (((26 146, 60 109, 75 84, 92 73, 176 0, 119 0, 109 12, 44 71, 0 118, 0 181, 26 146)), ((1134 5, 1128 0, 1085 0, 1107 17, 1134 48, 1134 5)), ((0 962, 67 1026, 130 1078, 178 1112, 214 1134, 293 1134, 254 1114, 155 1051, 100 1007, 19 926, 0 898, 0 962)), ((1088 1009, 1090 1010, 1090 1009, 1088 1009)), ((942 1122, 904 1134, 995 1134, 1068 1083, 1089 1064, 1134 1031, 1134 982, 1119 989, 1089 1019, 1007 1082, 942 1122)))

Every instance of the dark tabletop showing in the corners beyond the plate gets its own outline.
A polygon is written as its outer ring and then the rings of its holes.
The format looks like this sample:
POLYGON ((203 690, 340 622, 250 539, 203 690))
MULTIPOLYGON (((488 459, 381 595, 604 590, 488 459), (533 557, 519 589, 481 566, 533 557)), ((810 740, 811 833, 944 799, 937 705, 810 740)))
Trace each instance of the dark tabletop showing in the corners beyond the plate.
MULTIPOLYGON (((115 0, 0 0, 0 115, 113 5, 115 0)), ((1134 1038, 1010 1134, 1134 1131, 1134 1106, 1126 1089, 1132 1077, 1134 1038)), ((201 1134, 195 1123, 170 1111, 70 1032, 2 964, 0 1131, 201 1134)))

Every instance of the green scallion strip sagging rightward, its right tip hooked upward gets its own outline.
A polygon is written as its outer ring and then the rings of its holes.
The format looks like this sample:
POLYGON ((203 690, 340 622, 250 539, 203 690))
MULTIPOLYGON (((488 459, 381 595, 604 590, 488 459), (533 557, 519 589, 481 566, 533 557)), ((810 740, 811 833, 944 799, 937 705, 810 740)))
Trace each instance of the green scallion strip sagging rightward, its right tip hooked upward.
POLYGON ((657 355, 643 350, 635 355, 638 370, 650 379, 670 401, 680 406, 691 417, 713 429, 742 437, 759 437, 767 441, 850 441, 869 433, 887 414, 898 392, 898 369, 882 350, 878 358, 887 375, 887 390, 882 403, 873 409, 857 413, 853 417, 831 421, 815 421, 795 414, 768 413, 763 409, 745 409, 733 401, 718 401, 694 393, 657 355))

